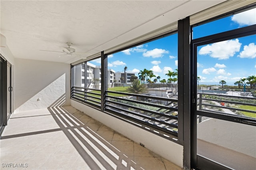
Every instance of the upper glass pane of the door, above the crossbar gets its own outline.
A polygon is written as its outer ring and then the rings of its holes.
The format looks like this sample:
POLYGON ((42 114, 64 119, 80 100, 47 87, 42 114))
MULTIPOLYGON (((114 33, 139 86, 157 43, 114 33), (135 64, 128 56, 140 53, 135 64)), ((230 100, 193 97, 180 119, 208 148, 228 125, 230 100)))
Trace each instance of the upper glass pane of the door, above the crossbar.
POLYGON ((198 110, 256 118, 256 35, 198 46, 198 110))

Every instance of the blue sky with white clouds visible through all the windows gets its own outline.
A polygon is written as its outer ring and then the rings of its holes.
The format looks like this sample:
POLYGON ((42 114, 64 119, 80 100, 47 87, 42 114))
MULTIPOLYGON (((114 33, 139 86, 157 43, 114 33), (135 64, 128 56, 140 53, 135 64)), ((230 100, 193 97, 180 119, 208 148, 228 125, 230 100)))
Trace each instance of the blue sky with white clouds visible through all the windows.
MULTIPOLYGON (((208 36, 256 24, 256 8, 193 28, 193 38, 208 36)), ((144 68, 168 79, 168 70, 178 68, 178 34, 148 42, 108 56, 108 69, 138 72, 144 68)), ((92 61, 98 65, 100 60, 92 61)), ((198 47, 200 84, 225 80, 234 84, 240 78, 256 75, 256 35, 198 47)), ((152 78, 153 80, 154 78, 152 78)))

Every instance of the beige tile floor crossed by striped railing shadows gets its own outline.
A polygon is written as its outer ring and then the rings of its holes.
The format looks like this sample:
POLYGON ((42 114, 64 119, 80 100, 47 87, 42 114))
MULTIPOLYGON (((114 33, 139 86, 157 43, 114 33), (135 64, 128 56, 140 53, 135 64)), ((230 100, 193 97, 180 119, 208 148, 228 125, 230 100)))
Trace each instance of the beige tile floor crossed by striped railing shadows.
POLYGON ((71 106, 11 115, 0 140, 0 169, 180 170, 71 106))

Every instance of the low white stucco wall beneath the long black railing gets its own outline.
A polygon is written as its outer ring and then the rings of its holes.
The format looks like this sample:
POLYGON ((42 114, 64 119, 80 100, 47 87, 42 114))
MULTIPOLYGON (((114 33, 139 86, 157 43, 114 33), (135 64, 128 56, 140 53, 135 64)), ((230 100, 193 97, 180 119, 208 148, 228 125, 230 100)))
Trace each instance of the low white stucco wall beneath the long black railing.
POLYGON ((86 115, 100 121, 104 125, 116 130, 134 142, 143 143, 146 148, 183 167, 183 146, 148 132, 142 128, 126 123, 120 119, 102 113, 92 107, 71 100, 71 105, 86 115))

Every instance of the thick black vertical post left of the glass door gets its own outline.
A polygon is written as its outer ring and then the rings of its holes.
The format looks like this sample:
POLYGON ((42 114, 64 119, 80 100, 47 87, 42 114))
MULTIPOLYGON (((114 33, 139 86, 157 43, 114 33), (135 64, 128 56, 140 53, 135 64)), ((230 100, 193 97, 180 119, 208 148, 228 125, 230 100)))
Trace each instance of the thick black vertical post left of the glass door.
POLYGON ((183 142, 183 168, 191 161, 190 18, 178 20, 178 140, 183 142))

